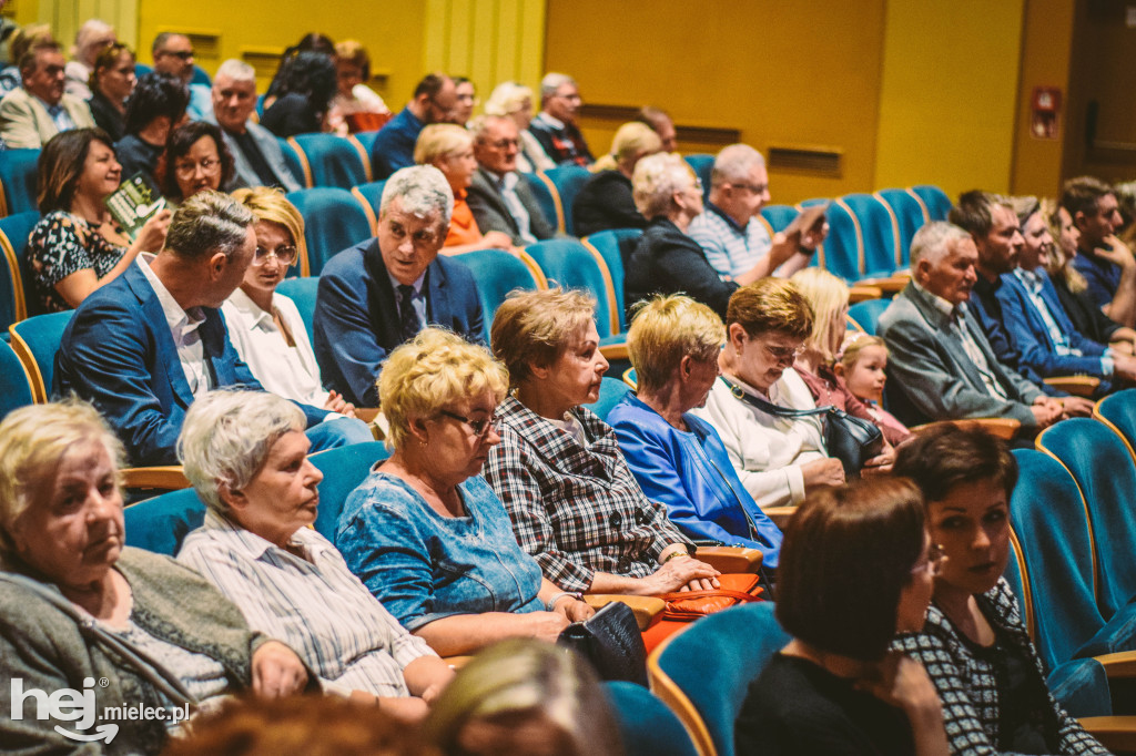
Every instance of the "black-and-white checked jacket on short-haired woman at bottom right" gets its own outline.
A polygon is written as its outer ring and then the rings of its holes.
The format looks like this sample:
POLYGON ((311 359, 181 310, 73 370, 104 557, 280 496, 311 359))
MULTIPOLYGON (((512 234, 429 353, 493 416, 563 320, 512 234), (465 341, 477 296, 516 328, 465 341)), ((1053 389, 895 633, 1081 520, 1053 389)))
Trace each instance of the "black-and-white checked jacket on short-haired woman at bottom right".
MULTIPOLYGON (((1021 623, 1018 600, 1004 579, 977 597, 993 606, 997 629, 1034 661, 1039 686, 1036 692, 1047 705, 1038 713, 1047 739, 1056 740, 1059 754, 1108 754, 1091 734, 1069 716, 1045 687, 1045 672, 1026 628, 1021 623)), ((894 647, 922 662, 943 702, 943 721, 951 753, 958 756, 1003 754, 999 733, 999 688, 995 670, 977 658, 959 631, 934 604, 927 612, 922 632, 896 638, 894 647)))

